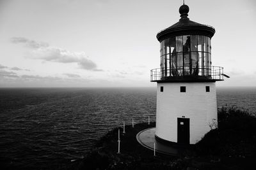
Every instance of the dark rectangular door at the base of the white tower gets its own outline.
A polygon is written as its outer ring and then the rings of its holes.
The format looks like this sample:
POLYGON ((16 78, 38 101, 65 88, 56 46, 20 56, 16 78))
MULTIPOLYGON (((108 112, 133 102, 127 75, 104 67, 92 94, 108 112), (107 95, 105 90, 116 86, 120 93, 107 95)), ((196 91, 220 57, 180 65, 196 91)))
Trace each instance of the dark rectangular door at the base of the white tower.
POLYGON ((189 144, 189 118, 178 118, 178 143, 189 144))

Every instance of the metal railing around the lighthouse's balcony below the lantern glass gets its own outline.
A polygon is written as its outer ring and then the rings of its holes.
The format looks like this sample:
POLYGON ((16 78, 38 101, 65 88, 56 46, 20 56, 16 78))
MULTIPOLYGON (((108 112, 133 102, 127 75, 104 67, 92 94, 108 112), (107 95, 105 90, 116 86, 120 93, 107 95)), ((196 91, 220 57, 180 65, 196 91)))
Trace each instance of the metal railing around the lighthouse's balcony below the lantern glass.
POLYGON ((171 80, 172 78, 193 78, 223 80, 223 67, 177 67, 170 69, 157 68, 150 71, 150 81, 171 80))

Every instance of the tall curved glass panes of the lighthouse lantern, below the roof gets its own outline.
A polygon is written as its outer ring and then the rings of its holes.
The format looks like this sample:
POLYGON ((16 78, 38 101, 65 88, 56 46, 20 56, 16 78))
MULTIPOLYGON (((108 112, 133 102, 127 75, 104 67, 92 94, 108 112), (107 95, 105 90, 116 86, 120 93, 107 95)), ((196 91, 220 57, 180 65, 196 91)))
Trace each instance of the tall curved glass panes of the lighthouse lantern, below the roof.
POLYGON ((160 46, 161 76, 211 76, 211 38, 174 36, 160 46))

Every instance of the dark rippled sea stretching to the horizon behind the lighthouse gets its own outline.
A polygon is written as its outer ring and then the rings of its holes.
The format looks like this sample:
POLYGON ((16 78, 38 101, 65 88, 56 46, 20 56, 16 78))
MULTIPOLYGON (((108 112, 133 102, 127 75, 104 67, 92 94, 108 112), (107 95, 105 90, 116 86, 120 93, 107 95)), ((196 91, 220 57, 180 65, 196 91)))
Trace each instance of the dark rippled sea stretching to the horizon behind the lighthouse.
MULTIPOLYGON (((217 88, 255 114, 256 87, 217 88)), ((65 169, 115 127, 156 121, 156 87, 0 89, 0 169, 65 169)))

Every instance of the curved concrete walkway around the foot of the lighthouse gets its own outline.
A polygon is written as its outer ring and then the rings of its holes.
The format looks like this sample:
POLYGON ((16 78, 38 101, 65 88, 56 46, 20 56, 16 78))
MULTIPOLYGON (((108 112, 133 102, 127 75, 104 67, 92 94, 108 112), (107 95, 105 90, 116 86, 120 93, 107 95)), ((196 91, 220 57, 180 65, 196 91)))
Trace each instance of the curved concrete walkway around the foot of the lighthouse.
POLYGON ((171 146, 166 143, 161 143, 155 139, 156 127, 148 128, 138 132, 136 138, 137 141, 144 147, 154 150, 154 143, 156 143, 156 152, 164 153, 168 155, 178 155, 183 149, 177 146, 171 146))

